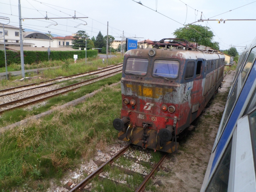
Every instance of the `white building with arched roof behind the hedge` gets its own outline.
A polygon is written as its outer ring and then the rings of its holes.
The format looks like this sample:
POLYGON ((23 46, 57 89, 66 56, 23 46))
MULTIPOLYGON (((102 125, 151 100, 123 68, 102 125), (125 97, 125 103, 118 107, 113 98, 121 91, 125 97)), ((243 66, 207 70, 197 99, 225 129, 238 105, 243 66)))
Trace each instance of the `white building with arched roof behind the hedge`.
POLYGON ((31 47, 53 47, 53 39, 37 31, 23 32, 23 45, 32 44, 31 47))

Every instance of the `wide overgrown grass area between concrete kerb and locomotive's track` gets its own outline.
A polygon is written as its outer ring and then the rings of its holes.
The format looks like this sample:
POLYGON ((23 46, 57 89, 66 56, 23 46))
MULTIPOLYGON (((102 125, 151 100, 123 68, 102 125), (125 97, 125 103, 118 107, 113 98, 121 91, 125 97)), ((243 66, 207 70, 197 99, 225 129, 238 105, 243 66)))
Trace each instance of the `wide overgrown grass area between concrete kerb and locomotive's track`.
MULTIPOLYGON (((113 82, 120 80, 120 75, 112 79, 113 82)), ((103 81, 108 84, 109 80, 103 81)), ((94 87, 90 92, 92 90, 94 87)), ((51 103, 72 100, 75 94, 53 98, 51 103)), ((79 94, 84 95, 81 91, 79 94)), ((61 178, 65 170, 74 169, 82 157, 92 157, 97 145, 116 138, 112 121, 120 116, 121 105, 119 84, 104 88, 76 107, 55 111, 23 128, 4 132, 0 136, 2 191, 19 190, 24 183, 30 191, 44 191, 49 187, 50 178, 61 178)))

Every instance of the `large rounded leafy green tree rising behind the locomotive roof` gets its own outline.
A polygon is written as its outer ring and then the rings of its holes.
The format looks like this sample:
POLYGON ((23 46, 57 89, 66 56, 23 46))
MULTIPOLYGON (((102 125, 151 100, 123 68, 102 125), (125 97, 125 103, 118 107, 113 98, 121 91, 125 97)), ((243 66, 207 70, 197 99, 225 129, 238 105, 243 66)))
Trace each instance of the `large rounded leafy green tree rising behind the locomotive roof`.
POLYGON ((189 25, 187 27, 178 28, 173 33, 176 38, 186 39, 189 42, 196 42, 200 45, 209 46, 219 50, 218 42, 213 41, 213 32, 209 27, 201 25, 189 25))

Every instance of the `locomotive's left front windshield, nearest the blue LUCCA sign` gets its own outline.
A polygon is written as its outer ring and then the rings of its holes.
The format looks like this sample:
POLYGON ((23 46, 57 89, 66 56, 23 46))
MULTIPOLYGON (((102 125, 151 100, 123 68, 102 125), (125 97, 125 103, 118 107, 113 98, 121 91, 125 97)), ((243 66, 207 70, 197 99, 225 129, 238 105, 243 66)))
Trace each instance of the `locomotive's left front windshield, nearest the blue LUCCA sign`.
POLYGON ((147 74, 148 69, 148 59, 145 58, 128 58, 126 61, 125 73, 132 75, 142 75, 147 74))

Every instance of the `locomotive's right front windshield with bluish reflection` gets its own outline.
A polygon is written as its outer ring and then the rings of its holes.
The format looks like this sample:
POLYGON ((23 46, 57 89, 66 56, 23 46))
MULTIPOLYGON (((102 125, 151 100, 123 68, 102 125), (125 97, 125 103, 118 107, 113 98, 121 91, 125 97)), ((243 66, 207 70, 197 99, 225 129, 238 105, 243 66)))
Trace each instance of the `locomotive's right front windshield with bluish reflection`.
POLYGON ((160 60, 154 62, 153 76, 162 76, 166 78, 177 78, 180 62, 177 60, 160 60))

